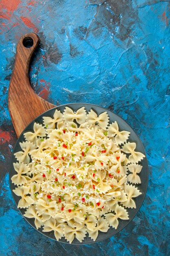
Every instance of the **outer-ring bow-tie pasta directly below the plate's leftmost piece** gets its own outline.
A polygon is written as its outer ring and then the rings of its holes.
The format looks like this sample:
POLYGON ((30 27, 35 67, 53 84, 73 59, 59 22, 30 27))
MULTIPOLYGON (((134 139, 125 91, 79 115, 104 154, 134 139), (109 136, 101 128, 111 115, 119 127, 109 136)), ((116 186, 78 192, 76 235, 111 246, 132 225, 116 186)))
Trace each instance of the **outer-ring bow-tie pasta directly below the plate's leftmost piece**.
POLYGON ((18 202, 18 208, 28 208, 33 204, 34 200, 28 195, 30 193, 30 186, 18 186, 13 189, 13 192, 21 197, 18 202))

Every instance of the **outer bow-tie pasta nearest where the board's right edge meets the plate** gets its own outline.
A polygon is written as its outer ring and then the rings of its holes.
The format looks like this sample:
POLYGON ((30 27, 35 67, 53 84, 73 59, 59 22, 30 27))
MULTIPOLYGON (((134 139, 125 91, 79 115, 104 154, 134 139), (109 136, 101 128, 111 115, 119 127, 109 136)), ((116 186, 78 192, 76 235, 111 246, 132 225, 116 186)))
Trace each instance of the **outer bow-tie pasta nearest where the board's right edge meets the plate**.
POLYGON ((54 129, 56 123, 60 123, 63 121, 63 114, 60 110, 55 110, 53 118, 51 117, 43 117, 43 124, 48 129, 54 129))

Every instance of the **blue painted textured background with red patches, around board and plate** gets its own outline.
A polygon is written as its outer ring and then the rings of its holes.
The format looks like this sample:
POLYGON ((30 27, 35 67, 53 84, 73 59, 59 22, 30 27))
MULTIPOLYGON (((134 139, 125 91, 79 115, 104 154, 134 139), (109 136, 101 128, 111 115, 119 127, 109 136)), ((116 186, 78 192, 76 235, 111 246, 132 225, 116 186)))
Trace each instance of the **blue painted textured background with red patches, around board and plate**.
POLYGON ((0 9, 0 255, 170 255, 170 2, 1 0, 0 9), (46 238, 13 201, 8 168, 17 137, 7 97, 16 44, 31 31, 41 39, 30 71, 36 93, 55 105, 106 107, 144 144, 150 171, 144 204, 103 242, 46 238))

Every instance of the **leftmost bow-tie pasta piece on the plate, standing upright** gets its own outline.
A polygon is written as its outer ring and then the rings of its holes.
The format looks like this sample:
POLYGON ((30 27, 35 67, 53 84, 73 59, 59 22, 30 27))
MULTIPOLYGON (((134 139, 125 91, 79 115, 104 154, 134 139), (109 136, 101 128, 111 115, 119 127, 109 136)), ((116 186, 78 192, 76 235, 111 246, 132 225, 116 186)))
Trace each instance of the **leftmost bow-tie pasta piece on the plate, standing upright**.
POLYGON ((26 177, 23 174, 28 173, 30 168, 27 166, 27 164, 23 163, 13 163, 13 167, 17 174, 11 177, 12 183, 14 183, 17 186, 24 185, 26 183, 26 177))

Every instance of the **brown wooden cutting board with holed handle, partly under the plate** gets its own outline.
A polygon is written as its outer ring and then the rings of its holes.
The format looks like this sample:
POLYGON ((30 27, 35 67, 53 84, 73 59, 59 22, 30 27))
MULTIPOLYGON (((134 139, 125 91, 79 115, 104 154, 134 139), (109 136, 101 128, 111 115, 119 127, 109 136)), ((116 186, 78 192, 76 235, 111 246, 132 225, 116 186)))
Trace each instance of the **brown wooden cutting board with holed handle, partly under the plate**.
POLYGON ((40 38, 35 33, 22 36, 17 45, 15 64, 9 84, 8 104, 15 132, 19 137, 24 128, 40 114, 55 105, 39 97, 29 82, 29 64, 40 38), (32 38, 33 46, 26 48, 23 41, 32 38))

